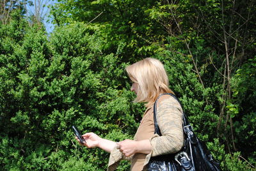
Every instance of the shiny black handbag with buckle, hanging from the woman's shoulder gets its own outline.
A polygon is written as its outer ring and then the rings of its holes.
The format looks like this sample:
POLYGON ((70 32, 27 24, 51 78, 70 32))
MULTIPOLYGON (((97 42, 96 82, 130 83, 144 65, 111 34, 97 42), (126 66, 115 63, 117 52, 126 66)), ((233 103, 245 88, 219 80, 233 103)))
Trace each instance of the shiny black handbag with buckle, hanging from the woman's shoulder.
MULTIPOLYGON (((177 101, 179 99, 171 93, 170 94, 177 101)), ((160 97, 159 96, 159 97, 160 97)), ((157 98, 157 100, 159 99, 157 98)), ((156 106, 157 100, 154 103, 154 124, 155 133, 161 136, 157 121, 156 121, 156 106)), ((180 101, 179 101, 180 103, 180 101)), ((180 106, 182 107, 181 103, 180 106)), ((184 147, 175 154, 166 154, 150 158, 148 162, 148 171, 162 170, 162 171, 174 171, 174 170, 188 170, 188 171, 202 171, 202 170, 221 170, 220 164, 214 160, 211 152, 207 149, 204 142, 201 142, 195 133, 191 125, 188 122, 186 115, 183 112, 183 130, 184 130, 184 147)))

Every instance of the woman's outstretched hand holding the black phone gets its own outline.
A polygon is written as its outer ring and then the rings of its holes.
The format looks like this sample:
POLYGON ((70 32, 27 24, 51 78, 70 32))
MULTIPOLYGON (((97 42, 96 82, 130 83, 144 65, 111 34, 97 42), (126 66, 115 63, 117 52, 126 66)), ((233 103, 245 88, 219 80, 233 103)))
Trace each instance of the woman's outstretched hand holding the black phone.
POLYGON ((82 135, 82 137, 84 137, 84 140, 86 140, 86 142, 84 142, 84 144, 81 144, 80 140, 76 137, 76 140, 79 142, 79 144, 84 145, 88 148, 99 147, 99 142, 101 138, 95 133, 85 133, 84 135, 82 135))

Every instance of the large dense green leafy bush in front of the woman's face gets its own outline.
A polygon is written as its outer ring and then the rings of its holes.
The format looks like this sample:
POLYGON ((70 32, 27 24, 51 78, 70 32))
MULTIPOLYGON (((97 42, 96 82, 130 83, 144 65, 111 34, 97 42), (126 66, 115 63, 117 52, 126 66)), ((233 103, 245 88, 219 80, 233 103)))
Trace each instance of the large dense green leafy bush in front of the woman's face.
POLYGON ((60 27, 48 40, 15 17, 1 25, 1 168, 106 170, 108 154, 79 147, 71 126, 116 141, 132 138, 143 108, 131 103, 127 64, 104 54, 104 40, 84 24, 60 27))

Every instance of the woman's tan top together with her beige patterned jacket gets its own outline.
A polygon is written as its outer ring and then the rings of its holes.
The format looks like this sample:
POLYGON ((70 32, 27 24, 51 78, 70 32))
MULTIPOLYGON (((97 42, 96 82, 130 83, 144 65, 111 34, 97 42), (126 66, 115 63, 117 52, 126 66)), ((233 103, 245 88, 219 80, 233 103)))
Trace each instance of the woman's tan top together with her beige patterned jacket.
POLYGON ((130 160, 131 170, 147 170, 146 165, 152 156, 178 152, 184 143, 182 128, 182 108, 179 102, 170 95, 163 95, 157 102, 157 123, 162 136, 154 135, 153 107, 147 108, 134 140, 149 139, 152 151, 150 154, 136 153, 129 158, 122 156, 116 149, 109 156, 108 170, 115 170, 120 160, 130 160))

